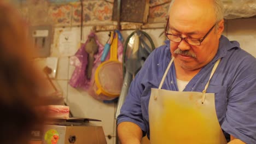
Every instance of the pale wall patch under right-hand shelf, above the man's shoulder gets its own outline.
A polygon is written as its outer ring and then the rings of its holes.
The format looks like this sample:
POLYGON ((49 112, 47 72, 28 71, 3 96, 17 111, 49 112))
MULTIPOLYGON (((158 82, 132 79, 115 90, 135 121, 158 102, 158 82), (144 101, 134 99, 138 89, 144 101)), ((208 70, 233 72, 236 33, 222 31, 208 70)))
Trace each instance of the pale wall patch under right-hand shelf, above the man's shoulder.
POLYGON ((228 35, 229 40, 236 40, 240 47, 256 57, 256 38, 253 35, 228 35))

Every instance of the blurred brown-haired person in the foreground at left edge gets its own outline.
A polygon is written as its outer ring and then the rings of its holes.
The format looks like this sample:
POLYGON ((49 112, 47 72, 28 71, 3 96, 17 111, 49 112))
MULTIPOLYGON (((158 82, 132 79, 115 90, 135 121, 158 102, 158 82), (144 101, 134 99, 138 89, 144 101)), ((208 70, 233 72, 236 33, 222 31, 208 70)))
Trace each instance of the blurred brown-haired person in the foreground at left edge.
POLYGON ((46 104, 42 77, 32 64, 33 51, 25 21, 0 1, 0 143, 29 143, 34 127, 42 128, 46 104))

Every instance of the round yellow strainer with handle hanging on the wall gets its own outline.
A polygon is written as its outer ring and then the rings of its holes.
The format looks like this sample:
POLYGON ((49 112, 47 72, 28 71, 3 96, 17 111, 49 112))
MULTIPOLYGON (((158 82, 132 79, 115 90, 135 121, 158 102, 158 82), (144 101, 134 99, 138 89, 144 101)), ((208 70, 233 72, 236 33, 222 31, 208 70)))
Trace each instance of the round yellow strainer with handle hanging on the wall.
POLYGON ((115 33, 113 37, 110 58, 101 63, 95 73, 96 94, 106 95, 110 99, 119 96, 123 83, 122 63, 118 61, 118 34, 115 33))

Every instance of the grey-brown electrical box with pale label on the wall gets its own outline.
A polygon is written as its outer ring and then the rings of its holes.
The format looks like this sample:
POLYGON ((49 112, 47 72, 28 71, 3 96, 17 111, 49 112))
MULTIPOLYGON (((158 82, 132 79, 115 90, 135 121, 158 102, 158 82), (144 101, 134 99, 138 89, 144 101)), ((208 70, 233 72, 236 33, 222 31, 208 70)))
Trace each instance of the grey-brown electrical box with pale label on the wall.
POLYGON ((49 57, 52 39, 51 26, 32 26, 30 29, 34 49, 36 49, 36 57, 49 57))

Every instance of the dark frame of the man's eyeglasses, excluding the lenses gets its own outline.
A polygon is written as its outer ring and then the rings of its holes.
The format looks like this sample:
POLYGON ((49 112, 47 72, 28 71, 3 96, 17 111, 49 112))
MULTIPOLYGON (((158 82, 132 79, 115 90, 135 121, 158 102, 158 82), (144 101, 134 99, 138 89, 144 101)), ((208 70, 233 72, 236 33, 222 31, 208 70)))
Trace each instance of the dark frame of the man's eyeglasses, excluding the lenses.
MULTIPOLYGON (((179 36, 179 35, 175 35, 175 34, 171 34, 171 33, 167 33, 166 31, 167 31, 167 27, 168 27, 168 25, 169 25, 169 17, 168 17, 168 20, 167 20, 167 23, 166 23, 166 27, 165 27, 165 36, 167 37, 167 39, 168 40, 171 40, 171 39, 169 39, 168 38, 168 35, 173 35, 173 36, 175 36, 175 37, 179 37, 179 38, 181 38, 181 41, 184 39, 184 41, 186 41, 186 43, 188 43, 189 44, 189 42, 187 41, 187 39, 191 39, 191 40, 198 40, 199 41, 199 45, 201 45, 201 43, 202 43, 202 41, 203 40, 205 40, 205 38, 207 37, 207 35, 212 31, 212 29, 216 26, 216 24, 217 23, 215 23, 212 27, 211 27, 211 29, 205 34, 205 36, 203 37, 203 38, 201 38, 201 39, 193 39, 193 38, 188 38, 188 37, 181 37, 181 36, 179 36)), ((173 40, 171 40, 171 41, 173 41, 173 40)), ((176 42, 176 43, 181 43, 181 41, 173 41, 173 42, 176 42)), ((189 45, 193 45, 193 44, 189 44, 189 45)), ((195 45, 195 46, 199 46, 199 45, 195 45)))

